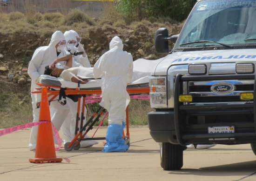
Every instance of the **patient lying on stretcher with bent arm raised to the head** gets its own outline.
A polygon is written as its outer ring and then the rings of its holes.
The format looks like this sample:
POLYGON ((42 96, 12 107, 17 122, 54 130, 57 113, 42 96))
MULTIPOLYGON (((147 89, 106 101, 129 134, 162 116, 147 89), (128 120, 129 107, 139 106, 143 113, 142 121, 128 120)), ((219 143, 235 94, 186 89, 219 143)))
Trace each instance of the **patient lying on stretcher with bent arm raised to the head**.
POLYGON ((61 77, 64 80, 72 81, 75 83, 86 84, 88 80, 82 80, 77 76, 79 67, 72 67, 72 55, 65 55, 61 58, 54 60, 54 62, 45 67, 44 74, 54 77, 61 77), (67 61, 64 68, 61 66, 60 61, 67 61))

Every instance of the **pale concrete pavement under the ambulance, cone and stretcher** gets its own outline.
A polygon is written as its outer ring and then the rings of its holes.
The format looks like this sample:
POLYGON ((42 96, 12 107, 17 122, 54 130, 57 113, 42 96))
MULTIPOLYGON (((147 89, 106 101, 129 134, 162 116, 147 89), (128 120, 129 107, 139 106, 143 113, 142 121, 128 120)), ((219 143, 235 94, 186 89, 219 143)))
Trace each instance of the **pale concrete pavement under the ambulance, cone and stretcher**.
MULTIPOLYGON (((96 137, 105 134, 102 127, 96 137)), ((164 171, 148 127, 130 128, 131 146, 125 153, 103 153, 99 141, 71 152, 61 148, 56 152, 65 158, 61 163, 30 163, 29 135, 30 129, 0 136, 0 181, 256 181, 256 156, 249 144, 187 149, 181 170, 164 171)))

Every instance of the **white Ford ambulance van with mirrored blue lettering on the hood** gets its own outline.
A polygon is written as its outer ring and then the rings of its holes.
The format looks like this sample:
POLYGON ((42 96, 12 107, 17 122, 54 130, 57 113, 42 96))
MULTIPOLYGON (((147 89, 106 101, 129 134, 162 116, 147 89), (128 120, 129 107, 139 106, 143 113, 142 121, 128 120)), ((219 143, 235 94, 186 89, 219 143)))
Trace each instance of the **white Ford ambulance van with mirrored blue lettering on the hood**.
POLYGON ((169 52, 149 82, 162 168, 181 169, 189 144, 250 143, 256 154, 256 0, 198 0, 180 34, 156 31, 155 48, 169 52))

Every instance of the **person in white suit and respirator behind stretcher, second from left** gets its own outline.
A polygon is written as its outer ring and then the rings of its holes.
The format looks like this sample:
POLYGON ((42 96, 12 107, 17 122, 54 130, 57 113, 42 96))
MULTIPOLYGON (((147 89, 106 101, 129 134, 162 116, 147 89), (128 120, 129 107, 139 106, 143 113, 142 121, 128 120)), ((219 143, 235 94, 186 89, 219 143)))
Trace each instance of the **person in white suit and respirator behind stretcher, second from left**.
MULTIPOLYGON (((67 46, 65 47, 65 51, 67 51, 66 52, 67 54, 68 53, 74 54, 74 52, 82 52, 82 54, 79 54, 77 56, 73 55, 72 67, 91 67, 87 54, 85 53, 85 50, 83 48, 83 45, 80 43, 81 37, 74 30, 66 31, 64 33, 64 36, 67 41, 67 46)), ((74 102, 69 98, 67 98, 67 102, 70 104, 71 109, 70 109, 70 114, 67 115, 67 118, 65 119, 65 121, 61 126, 61 133, 64 138, 64 145, 67 142, 71 142, 74 139, 75 121, 76 121, 76 114, 77 114, 77 102, 74 102)), ((80 104, 80 114, 79 114, 80 117, 81 117, 81 110, 82 110, 82 104, 80 104)), ((87 113, 87 109, 85 107, 84 124, 86 122, 86 113, 87 113)), ((80 121, 78 125, 80 125, 80 121)), ((85 135, 84 138, 88 138, 88 135, 85 135)), ((80 142, 81 148, 91 147, 94 144, 98 144, 98 141, 88 140, 88 141, 80 142)))

